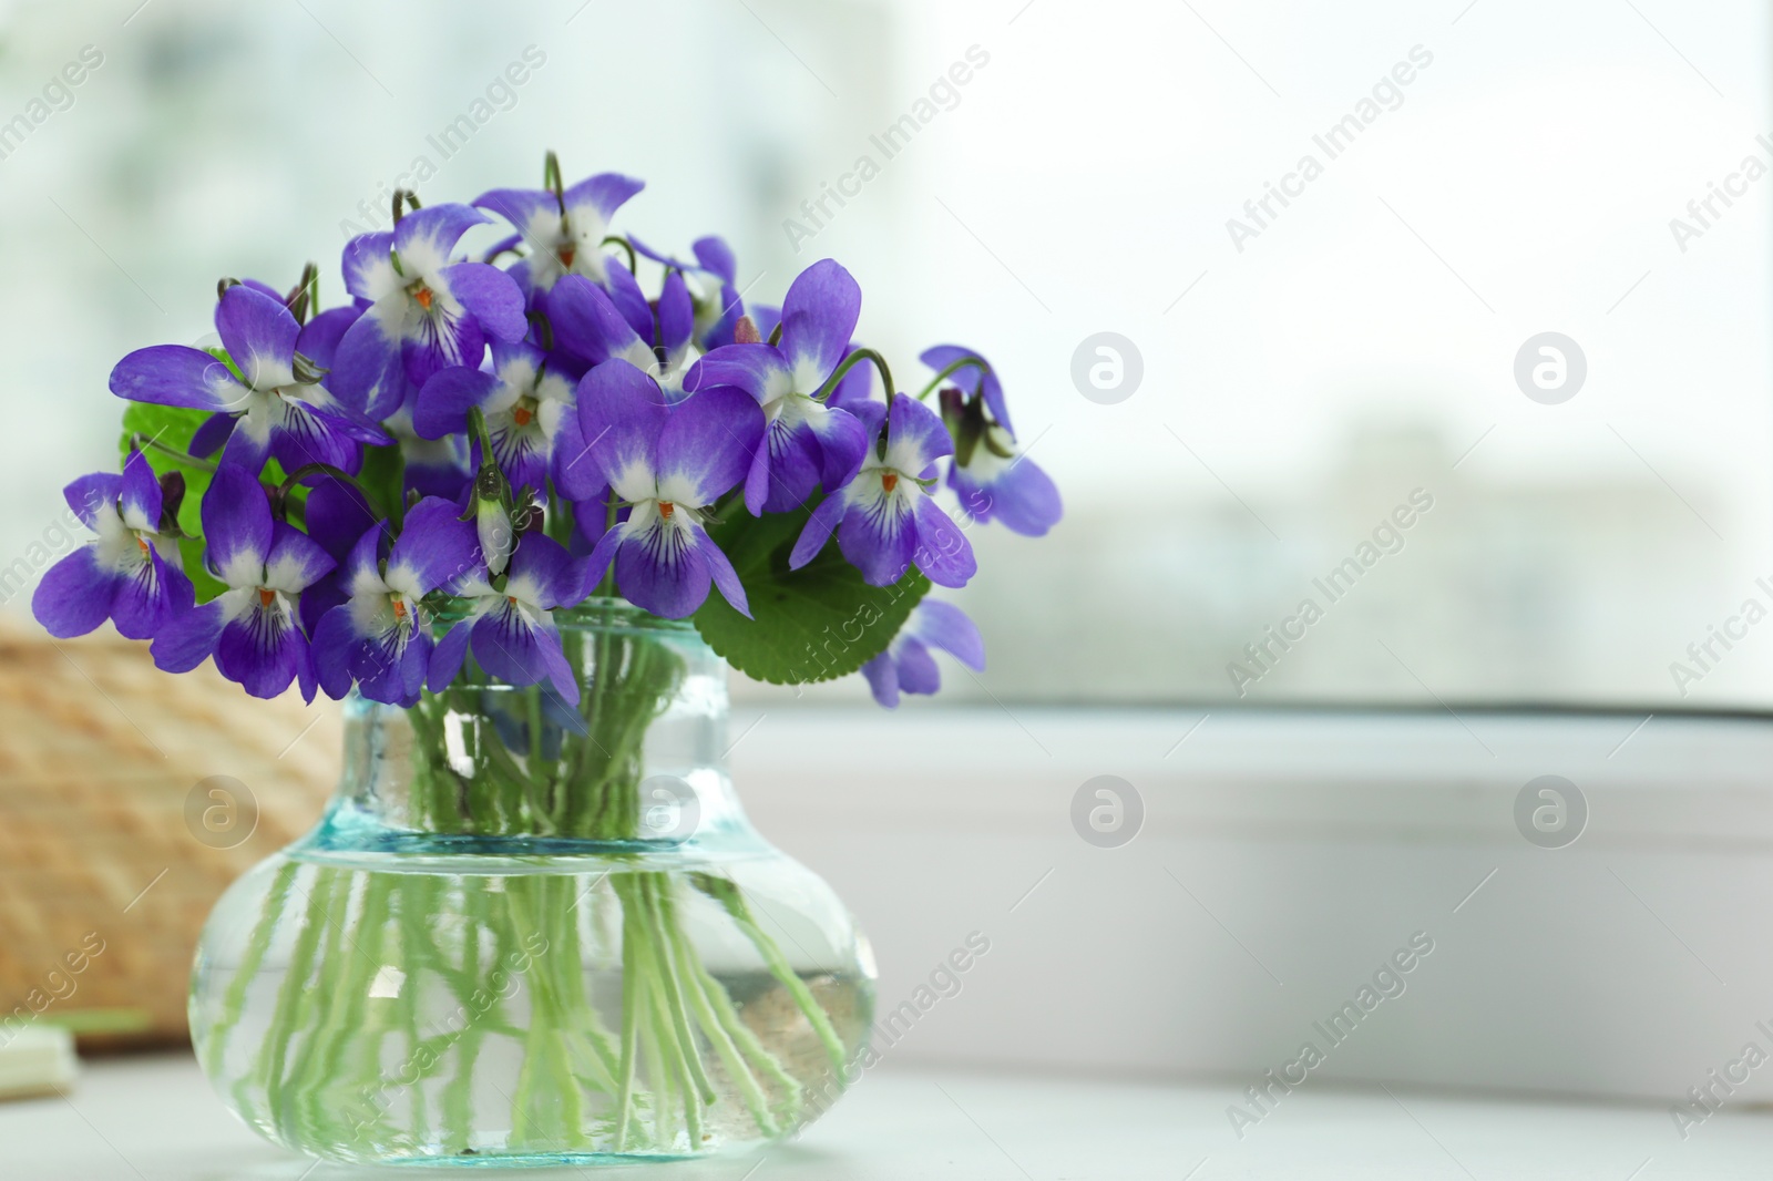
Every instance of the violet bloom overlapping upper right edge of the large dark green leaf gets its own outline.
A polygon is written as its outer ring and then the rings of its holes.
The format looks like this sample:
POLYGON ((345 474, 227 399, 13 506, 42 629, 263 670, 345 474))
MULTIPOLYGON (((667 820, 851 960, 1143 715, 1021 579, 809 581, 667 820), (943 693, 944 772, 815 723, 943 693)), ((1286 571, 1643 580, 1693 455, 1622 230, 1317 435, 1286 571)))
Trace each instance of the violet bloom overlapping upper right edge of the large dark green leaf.
POLYGON ((789 553, 789 567, 800 569, 817 557, 837 530, 844 557, 871 585, 890 587, 917 564, 938 585, 965 587, 979 569, 973 546, 926 488, 936 481, 936 459, 954 454, 941 418, 906 394, 892 399, 883 429, 876 403, 856 413, 874 427, 876 442, 856 477, 812 511, 789 553))

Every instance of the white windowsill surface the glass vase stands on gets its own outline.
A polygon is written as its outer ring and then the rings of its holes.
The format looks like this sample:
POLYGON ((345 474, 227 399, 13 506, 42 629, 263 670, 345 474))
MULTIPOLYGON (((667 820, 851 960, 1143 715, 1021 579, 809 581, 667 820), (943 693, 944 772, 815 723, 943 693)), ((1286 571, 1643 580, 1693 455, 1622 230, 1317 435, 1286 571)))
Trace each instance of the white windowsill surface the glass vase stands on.
MULTIPOLYGON (((1761 1176, 1766 1117, 1722 1114, 1681 1140, 1642 1107, 1532 1105, 1305 1087, 1239 1140, 1230 1085, 904 1069, 886 1064, 805 1137, 757 1158, 663 1167, 661 1177, 1626 1177, 1761 1176), (1461 1169, 1464 1170, 1461 1174, 1461 1169)), ((30 1181, 294 1177, 376 1181, 319 1165, 232 1119, 188 1057, 94 1064, 67 1098, 0 1105, 7 1176, 30 1181)), ((528 1177, 519 1170, 475 1170, 528 1177)), ((553 1172, 546 1176, 557 1176, 553 1172)), ((566 1172, 562 1176, 576 1176, 566 1172)), ((589 1174, 585 1174, 589 1176, 589 1174)))

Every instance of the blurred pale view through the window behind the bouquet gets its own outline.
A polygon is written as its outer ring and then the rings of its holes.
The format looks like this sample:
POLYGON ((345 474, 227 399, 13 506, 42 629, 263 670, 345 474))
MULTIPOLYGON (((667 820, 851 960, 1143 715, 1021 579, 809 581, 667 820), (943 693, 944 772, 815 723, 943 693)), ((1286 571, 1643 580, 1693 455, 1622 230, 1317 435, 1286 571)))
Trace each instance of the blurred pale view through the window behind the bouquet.
POLYGON ((1688 213, 1773 161, 1766 5, 1441 7, 7 0, 0 117, 103 64, 0 142, 0 567, 112 461, 110 365, 211 332, 218 277, 316 259, 337 300, 395 183, 528 186, 553 147, 649 183, 617 229, 725 234, 752 300, 840 259, 906 383, 943 340, 998 365, 1069 512, 975 532, 991 663, 943 700, 1766 706, 1773 638, 1686 654, 1773 606, 1766 190, 1688 213), (1073 379, 1103 332, 1140 374, 1112 404, 1073 379), (1516 381, 1544 332, 1585 360, 1560 404, 1516 381), (1314 578, 1415 489, 1330 605, 1314 578))

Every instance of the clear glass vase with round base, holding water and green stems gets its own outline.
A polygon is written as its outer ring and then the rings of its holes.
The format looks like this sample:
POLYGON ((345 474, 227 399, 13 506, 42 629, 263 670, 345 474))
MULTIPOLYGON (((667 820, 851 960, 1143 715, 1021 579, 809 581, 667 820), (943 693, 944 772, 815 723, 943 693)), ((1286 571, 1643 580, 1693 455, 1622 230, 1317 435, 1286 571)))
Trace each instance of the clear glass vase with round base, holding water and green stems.
POLYGON ((580 679, 346 704, 321 823, 216 904, 191 1037, 261 1135, 344 1161, 617 1163, 793 1135, 842 1092, 867 940, 745 819, 725 663, 558 612, 580 679))

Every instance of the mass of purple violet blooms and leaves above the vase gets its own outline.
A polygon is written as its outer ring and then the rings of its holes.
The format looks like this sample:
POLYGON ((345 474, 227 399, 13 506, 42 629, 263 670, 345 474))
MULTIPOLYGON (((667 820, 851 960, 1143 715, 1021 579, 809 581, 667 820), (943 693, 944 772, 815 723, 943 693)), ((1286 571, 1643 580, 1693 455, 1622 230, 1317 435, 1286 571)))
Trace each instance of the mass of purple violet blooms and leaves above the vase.
POLYGON ((287 293, 223 278, 220 348, 112 371, 122 472, 67 486, 96 536, 44 575, 37 619, 108 619, 255 697, 406 708, 472 665, 576 706, 553 612, 610 596, 691 617, 762 681, 860 670, 883 706, 938 688, 931 649, 982 669, 972 621, 924 598, 975 573, 938 493, 1028 536, 1060 516, 996 371, 938 346, 899 392, 851 339, 849 271, 824 259, 746 307, 720 238, 679 259, 610 232, 640 188, 564 186, 550 154, 541 190, 399 192, 326 310, 312 264, 287 293), (463 252, 495 216, 514 232, 463 252))

